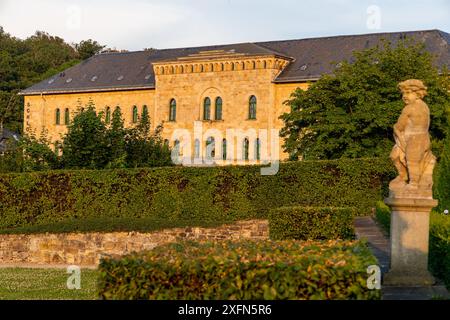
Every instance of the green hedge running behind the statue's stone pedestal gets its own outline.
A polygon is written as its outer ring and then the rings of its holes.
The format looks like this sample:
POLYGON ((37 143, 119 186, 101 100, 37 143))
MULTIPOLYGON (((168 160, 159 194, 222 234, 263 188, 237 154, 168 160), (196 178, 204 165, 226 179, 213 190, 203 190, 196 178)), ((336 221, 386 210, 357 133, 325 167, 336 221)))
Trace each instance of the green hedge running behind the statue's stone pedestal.
MULTIPOLYGON (((383 202, 377 202, 376 218, 390 233, 391 211, 383 202)), ((431 212, 428 265, 433 275, 444 281, 450 290, 450 216, 431 212)))

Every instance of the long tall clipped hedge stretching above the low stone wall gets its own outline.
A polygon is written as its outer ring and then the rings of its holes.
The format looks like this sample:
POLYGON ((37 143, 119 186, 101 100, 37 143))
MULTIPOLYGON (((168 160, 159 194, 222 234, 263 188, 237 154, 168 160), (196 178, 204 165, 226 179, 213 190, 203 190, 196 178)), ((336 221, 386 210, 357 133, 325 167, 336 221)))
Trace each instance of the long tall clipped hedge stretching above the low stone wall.
POLYGON ((387 192, 389 159, 259 166, 74 170, 0 175, 0 229, 93 217, 235 221, 280 206, 351 206, 365 215, 387 192))

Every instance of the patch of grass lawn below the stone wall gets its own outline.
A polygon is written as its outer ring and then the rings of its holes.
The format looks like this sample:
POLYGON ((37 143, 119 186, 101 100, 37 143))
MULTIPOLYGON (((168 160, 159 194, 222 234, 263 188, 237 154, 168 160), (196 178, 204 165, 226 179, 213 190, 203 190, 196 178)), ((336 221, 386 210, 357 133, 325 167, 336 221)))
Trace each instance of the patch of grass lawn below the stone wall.
POLYGON ((96 299, 97 271, 81 269, 81 288, 70 290, 66 269, 0 268, 2 300, 96 299))

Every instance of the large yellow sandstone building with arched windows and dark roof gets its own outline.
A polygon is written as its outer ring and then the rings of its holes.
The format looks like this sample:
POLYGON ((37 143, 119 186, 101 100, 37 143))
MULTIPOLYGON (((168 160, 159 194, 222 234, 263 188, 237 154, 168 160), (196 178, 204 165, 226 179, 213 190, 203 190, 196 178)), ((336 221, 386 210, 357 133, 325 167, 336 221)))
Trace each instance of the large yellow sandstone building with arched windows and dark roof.
POLYGON ((439 30, 99 54, 20 93, 24 132, 45 129, 51 141, 61 140, 92 101, 107 119, 121 108, 127 126, 147 108, 167 143, 183 141, 191 157, 285 159, 277 130, 290 94, 351 60, 354 50, 405 38, 424 43, 438 66, 449 65, 450 35, 439 30), (240 136, 227 137, 227 129, 240 136), (191 136, 180 140, 180 130, 191 136), (206 148, 211 142, 214 151, 206 148))

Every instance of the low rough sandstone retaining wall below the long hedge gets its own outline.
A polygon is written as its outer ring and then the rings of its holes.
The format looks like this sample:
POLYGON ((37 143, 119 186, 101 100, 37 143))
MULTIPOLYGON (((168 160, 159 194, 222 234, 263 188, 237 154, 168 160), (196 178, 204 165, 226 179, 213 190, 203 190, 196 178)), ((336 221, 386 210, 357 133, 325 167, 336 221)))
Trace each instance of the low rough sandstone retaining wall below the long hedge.
POLYGON ((180 240, 265 240, 267 220, 241 221, 217 228, 186 227, 149 233, 60 233, 0 235, 1 265, 96 266, 104 255, 118 257, 180 240))

